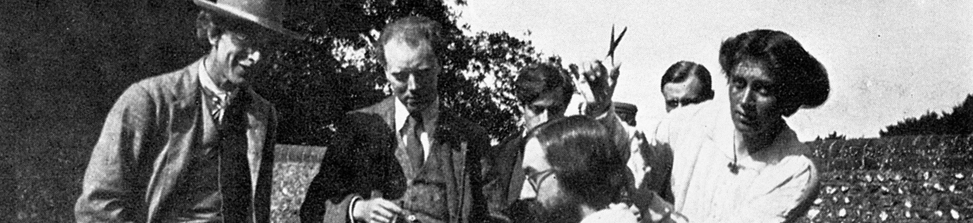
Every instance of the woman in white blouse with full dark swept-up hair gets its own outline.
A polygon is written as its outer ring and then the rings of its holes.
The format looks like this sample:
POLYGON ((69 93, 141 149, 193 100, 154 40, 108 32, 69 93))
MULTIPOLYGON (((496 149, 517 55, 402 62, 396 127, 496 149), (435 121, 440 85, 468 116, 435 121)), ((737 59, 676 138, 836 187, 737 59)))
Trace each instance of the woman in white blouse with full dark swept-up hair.
POLYGON ((658 143, 673 150, 676 211, 690 222, 803 216, 816 197, 817 170, 783 118, 824 103, 827 72, 793 37, 766 29, 724 41, 720 65, 729 104, 673 110, 656 130, 658 143))

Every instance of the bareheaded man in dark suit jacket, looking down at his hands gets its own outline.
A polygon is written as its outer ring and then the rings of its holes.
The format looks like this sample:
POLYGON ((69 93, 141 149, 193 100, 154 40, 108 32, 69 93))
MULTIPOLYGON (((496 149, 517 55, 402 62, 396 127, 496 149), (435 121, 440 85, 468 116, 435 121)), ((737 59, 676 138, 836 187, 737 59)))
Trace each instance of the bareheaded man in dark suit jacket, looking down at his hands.
POLYGON ((311 181, 302 222, 480 222, 485 131, 439 103, 439 24, 398 19, 379 38, 392 96, 349 112, 311 181))

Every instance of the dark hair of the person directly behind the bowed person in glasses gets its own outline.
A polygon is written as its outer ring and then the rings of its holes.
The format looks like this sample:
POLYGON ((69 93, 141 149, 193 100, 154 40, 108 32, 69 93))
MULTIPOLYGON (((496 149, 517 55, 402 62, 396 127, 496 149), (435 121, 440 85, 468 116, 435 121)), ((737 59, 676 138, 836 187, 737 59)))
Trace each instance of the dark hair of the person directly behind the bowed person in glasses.
POLYGON ((563 113, 567 110, 567 104, 571 102, 571 94, 574 93, 574 85, 571 83, 567 74, 551 63, 534 63, 527 65, 517 72, 517 79, 514 80, 514 93, 521 104, 530 104, 542 93, 551 91, 561 91, 561 101, 558 105, 547 108, 556 112, 563 113), (529 85, 534 80, 543 80, 544 86, 537 88, 529 85))

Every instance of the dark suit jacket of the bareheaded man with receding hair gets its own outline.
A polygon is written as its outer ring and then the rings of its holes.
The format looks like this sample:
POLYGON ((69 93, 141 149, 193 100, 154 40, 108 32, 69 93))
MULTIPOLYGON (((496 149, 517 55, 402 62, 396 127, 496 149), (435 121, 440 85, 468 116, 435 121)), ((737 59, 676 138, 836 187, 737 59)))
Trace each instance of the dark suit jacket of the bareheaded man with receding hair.
MULTIPOLYGON (((302 222, 349 222, 353 198, 380 192, 385 199, 403 196, 405 173, 395 155, 395 96, 347 113, 338 136, 321 161, 301 206, 302 222)), ((481 222, 486 217, 480 163, 489 146, 486 131, 440 106, 431 146, 450 151, 452 179, 446 185, 447 222, 481 222)), ((437 151, 437 150, 432 150, 437 151)))

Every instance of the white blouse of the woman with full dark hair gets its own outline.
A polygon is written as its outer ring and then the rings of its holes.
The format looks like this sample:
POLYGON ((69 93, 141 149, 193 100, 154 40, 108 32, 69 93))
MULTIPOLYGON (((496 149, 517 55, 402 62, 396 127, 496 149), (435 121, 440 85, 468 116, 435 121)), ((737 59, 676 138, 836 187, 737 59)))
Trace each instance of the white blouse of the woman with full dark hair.
POLYGON ((672 148, 674 206, 690 222, 782 222, 817 190, 810 149, 793 130, 784 127, 770 147, 747 154, 729 103, 677 108, 648 131, 650 143, 672 148), (736 159, 735 148, 744 151, 736 159), (735 160, 738 173, 728 167, 735 160))

